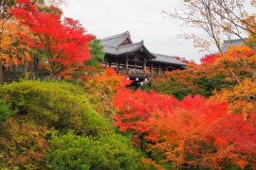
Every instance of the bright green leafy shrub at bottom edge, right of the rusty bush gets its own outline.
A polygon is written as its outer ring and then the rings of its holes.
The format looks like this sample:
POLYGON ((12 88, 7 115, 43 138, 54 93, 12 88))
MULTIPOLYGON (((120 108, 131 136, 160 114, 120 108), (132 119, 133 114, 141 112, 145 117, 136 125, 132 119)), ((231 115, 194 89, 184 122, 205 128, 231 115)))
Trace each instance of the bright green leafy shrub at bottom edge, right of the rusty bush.
POLYGON ((140 169, 137 151, 120 135, 101 140, 71 133, 54 136, 46 154, 52 169, 140 169))

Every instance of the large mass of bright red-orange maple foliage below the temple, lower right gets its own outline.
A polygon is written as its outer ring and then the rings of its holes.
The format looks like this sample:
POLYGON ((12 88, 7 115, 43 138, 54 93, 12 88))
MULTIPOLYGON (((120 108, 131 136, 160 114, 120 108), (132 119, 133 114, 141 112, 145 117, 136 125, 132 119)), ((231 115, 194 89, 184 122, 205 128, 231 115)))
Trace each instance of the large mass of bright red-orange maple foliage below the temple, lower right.
POLYGON ((113 104, 119 109, 116 126, 157 163, 208 168, 256 163, 256 128, 241 114, 228 115, 226 102, 199 95, 179 102, 169 95, 121 89, 113 104))

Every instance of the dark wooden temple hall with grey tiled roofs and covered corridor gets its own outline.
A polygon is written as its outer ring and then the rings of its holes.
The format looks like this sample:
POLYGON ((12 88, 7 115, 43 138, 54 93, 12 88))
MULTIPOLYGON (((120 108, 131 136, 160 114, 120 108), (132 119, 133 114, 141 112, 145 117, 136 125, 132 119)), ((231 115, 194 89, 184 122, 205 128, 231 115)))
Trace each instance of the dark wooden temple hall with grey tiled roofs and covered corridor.
POLYGON ((120 75, 127 75, 134 85, 142 85, 150 76, 186 66, 175 57, 151 53, 143 41, 133 42, 128 31, 101 39, 101 44, 104 46, 105 67, 113 67, 120 75))

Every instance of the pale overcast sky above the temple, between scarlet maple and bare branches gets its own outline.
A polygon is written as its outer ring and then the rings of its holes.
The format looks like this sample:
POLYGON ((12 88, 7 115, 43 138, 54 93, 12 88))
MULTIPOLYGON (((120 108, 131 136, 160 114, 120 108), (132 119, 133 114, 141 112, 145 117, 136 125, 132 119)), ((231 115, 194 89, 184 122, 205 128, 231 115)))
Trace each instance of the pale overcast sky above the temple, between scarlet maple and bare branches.
POLYGON ((161 13, 174 8, 181 8, 179 0, 69 0, 63 7, 65 17, 79 20, 99 39, 130 31, 133 42, 144 40, 151 52, 199 62, 204 54, 192 41, 177 39, 181 23, 161 13))

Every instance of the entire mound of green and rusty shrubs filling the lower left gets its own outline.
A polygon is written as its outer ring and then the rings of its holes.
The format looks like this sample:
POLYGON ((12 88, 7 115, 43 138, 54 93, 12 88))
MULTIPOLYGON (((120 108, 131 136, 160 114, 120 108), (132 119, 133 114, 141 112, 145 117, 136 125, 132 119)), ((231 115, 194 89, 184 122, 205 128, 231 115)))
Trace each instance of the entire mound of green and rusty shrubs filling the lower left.
POLYGON ((136 149, 91 109, 82 88, 64 82, 23 81, 1 86, 0 93, 1 168, 141 166, 136 149))

